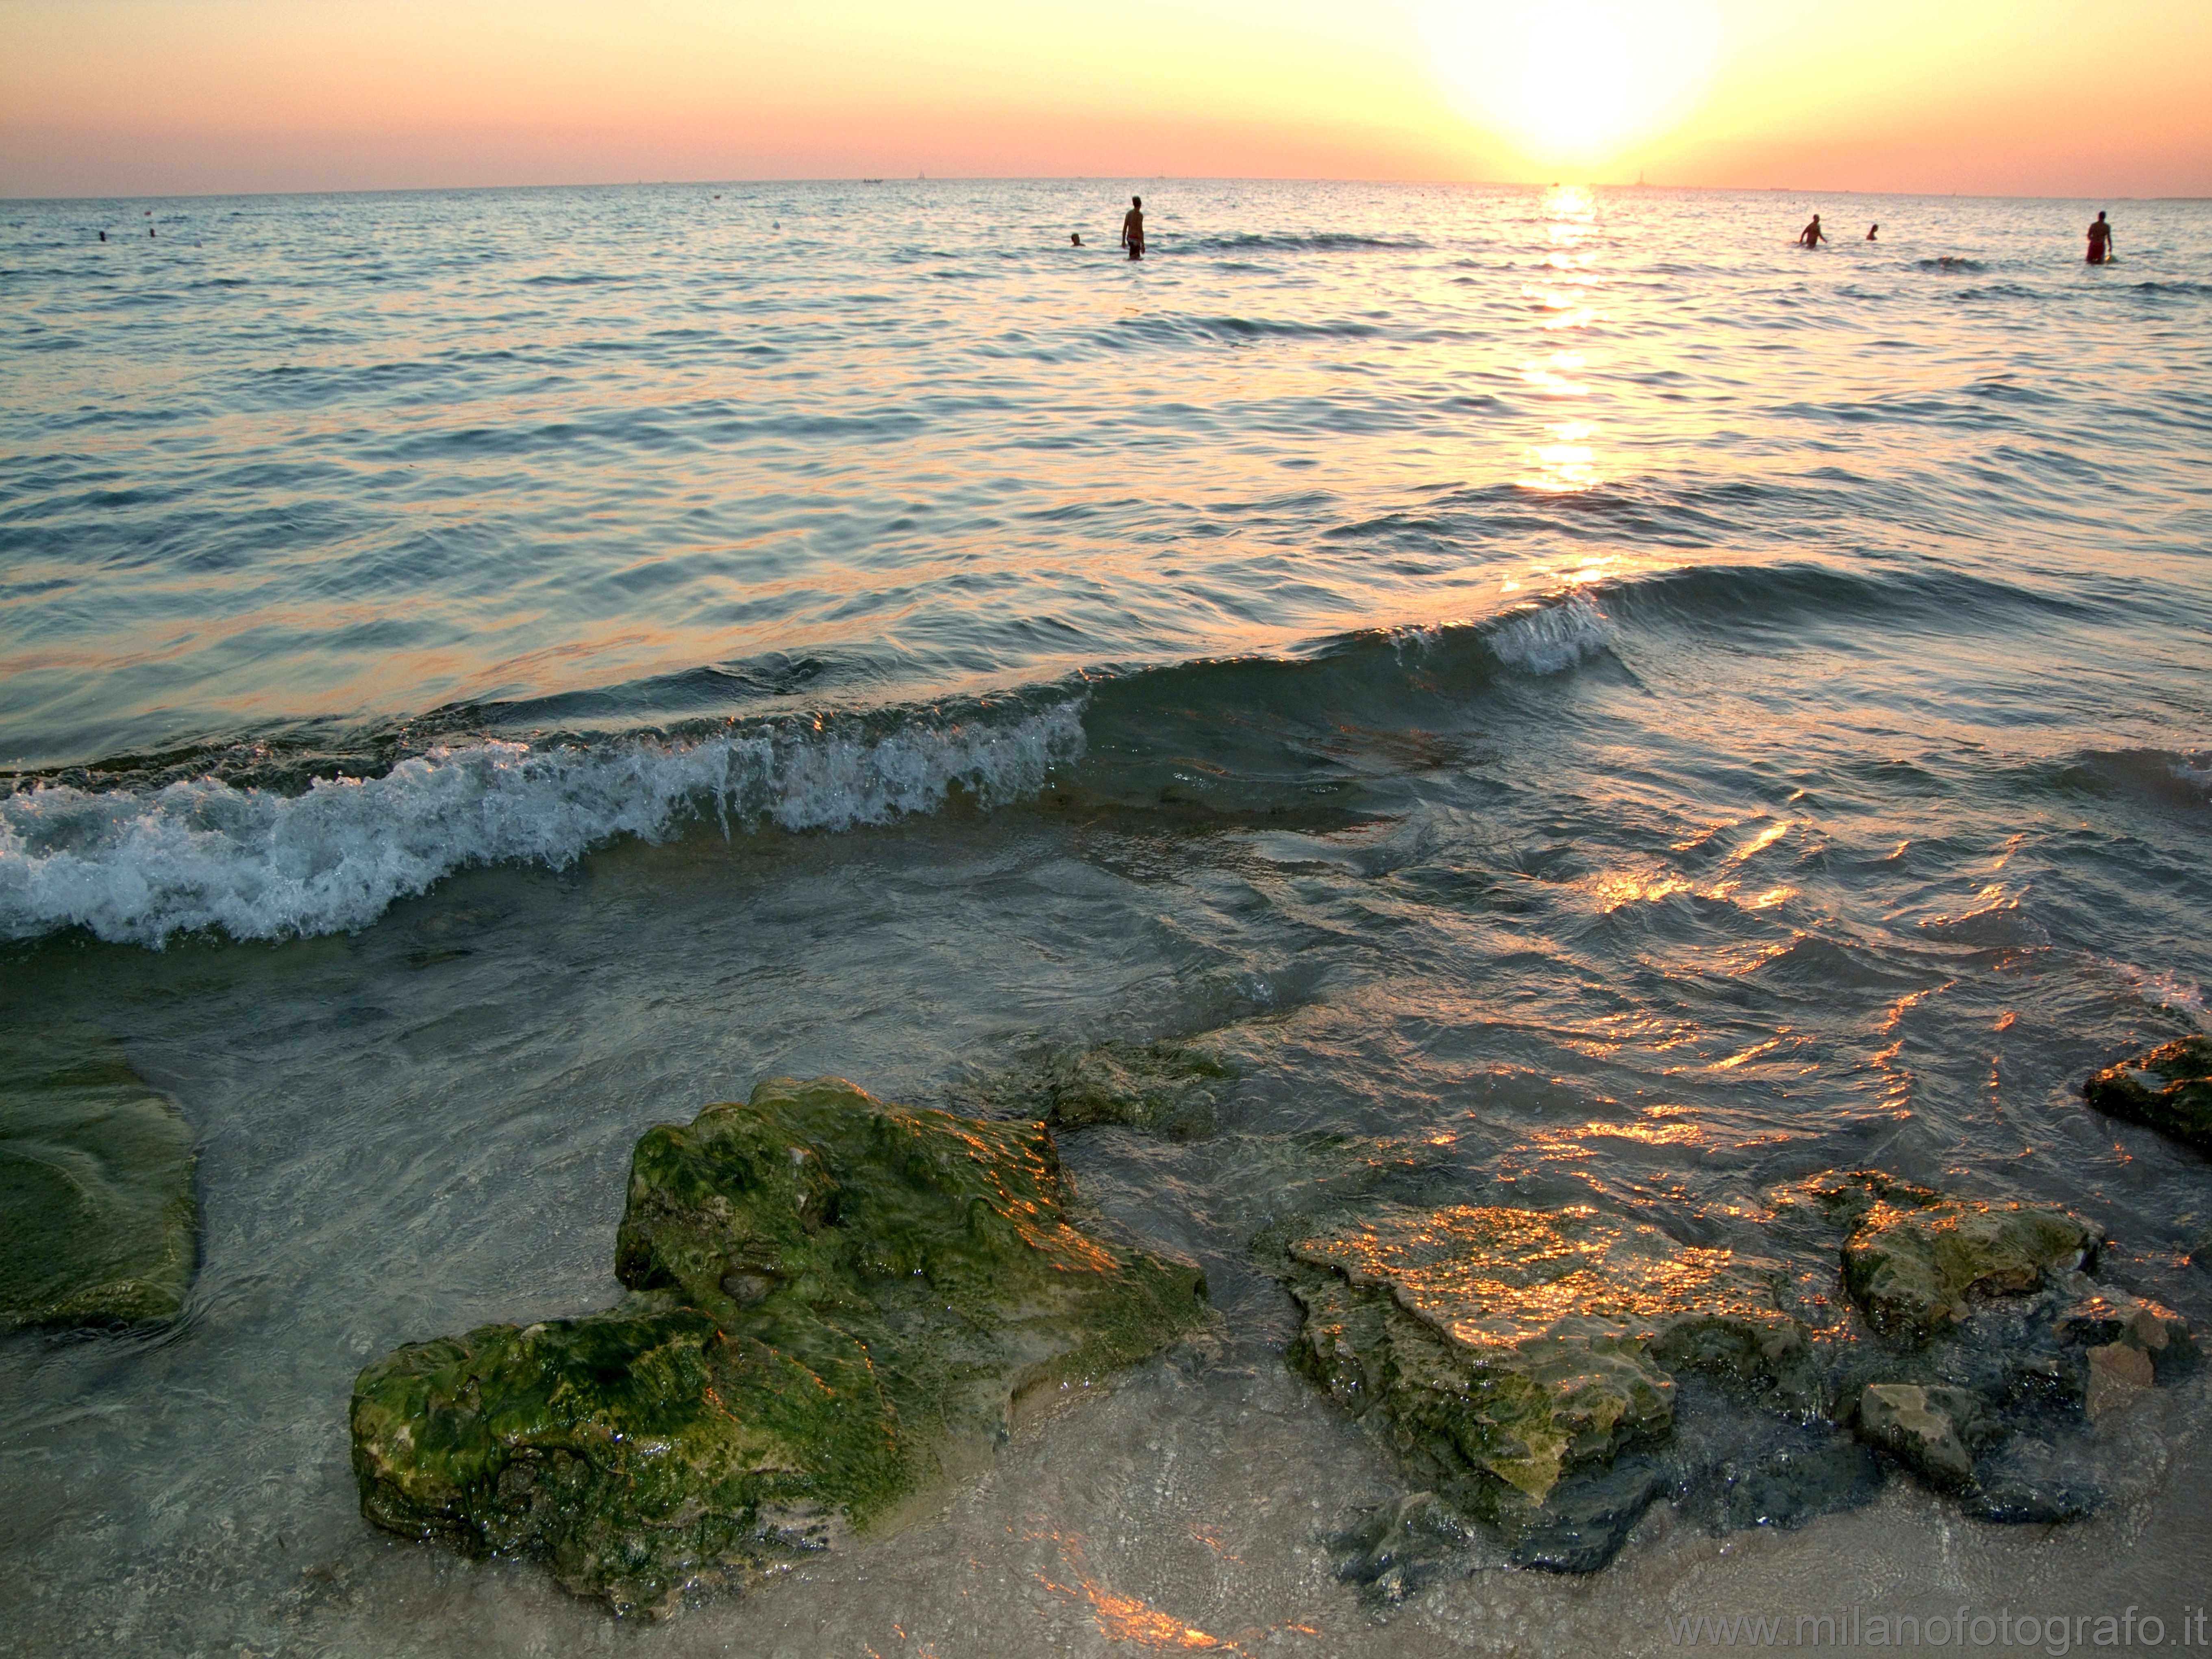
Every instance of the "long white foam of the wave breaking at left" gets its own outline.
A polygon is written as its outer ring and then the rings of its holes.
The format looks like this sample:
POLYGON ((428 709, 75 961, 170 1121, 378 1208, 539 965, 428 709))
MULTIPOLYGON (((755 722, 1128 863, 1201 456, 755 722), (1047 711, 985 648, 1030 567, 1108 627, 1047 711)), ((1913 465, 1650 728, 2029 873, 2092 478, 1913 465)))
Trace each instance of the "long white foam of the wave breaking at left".
POLYGON ((0 938, 86 927, 159 947, 201 929, 336 933, 469 865, 557 869, 708 814, 723 830, 849 830, 933 812, 956 785, 989 807, 1035 794, 1082 750, 1082 706, 1060 703, 1000 721, 785 726, 692 743, 487 741, 290 796, 217 779, 33 787, 0 799, 0 938))

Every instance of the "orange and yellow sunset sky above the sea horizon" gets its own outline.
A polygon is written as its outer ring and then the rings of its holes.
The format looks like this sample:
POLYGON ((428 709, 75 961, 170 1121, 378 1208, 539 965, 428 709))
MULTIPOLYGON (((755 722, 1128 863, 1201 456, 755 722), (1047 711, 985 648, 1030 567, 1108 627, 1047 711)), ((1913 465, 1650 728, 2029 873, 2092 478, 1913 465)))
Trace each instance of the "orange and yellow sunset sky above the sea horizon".
POLYGON ((0 195, 633 179, 2212 195, 2212 0, 0 0, 0 195))

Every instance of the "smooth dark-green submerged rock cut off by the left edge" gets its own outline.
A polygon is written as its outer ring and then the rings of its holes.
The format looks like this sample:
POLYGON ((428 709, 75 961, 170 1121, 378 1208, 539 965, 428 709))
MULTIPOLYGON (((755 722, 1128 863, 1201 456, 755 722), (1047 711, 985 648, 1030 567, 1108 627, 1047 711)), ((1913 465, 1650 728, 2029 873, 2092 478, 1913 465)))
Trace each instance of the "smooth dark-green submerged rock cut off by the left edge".
POLYGON ((0 1325, 173 1316, 199 1265, 192 1161, 108 1037, 0 1040, 0 1325))

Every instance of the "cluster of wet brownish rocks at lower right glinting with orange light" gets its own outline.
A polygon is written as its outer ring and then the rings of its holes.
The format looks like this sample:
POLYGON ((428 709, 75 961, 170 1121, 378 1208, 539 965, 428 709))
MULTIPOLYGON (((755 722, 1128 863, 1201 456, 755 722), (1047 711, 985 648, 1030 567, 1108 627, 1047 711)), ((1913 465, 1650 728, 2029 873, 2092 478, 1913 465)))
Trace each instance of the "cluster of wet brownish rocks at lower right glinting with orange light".
POLYGON ((1774 1194, 1787 1270, 1588 1208, 1323 1214, 1254 1248, 1305 1312, 1292 1365, 1416 1491, 1336 1540, 1383 1599, 1464 1571, 1444 1511, 1564 1573, 1659 1498, 1717 1531, 1798 1526, 1867 1502, 1885 1464, 1984 1520, 2068 1520, 2126 1482, 2095 1420, 2197 1363, 2179 1316, 2090 1276, 2081 1217, 1878 1170, 1774 1194), (1834 1312, 1812 1332, 1798 1307, 1834 1312))

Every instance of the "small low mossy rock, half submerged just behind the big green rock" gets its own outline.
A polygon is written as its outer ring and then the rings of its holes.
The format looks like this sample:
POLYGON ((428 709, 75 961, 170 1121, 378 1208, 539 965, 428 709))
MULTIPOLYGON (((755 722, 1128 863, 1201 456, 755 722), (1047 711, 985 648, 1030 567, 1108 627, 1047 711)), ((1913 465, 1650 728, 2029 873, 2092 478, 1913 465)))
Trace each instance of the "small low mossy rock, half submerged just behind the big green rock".
POLYGON ((1121 1124, 1175 1139, 1214 1130, 1221 1084, 1237 1068, 1186 1042, 1099 1042, 1044 1048, 1026 1064, 971 1082, 962 1104, 1042 1117, 1053 1128, 1121 1124))

